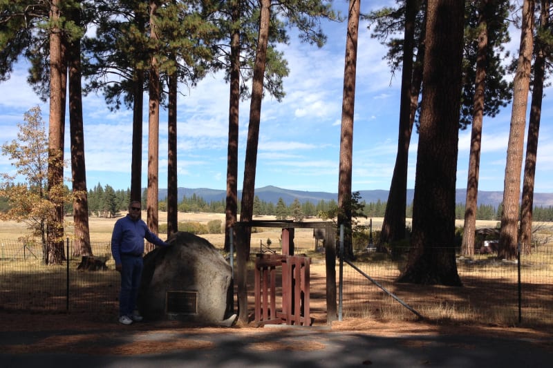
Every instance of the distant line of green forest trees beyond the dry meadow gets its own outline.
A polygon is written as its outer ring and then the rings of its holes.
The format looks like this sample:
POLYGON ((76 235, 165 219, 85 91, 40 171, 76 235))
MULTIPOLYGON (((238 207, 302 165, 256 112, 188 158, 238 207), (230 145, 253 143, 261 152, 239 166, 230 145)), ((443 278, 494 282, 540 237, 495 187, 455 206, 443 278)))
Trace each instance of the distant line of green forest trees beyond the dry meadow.
MULTIPOLYGON (((126 211, 129 206, 129 198, 131 196, 130 189, 125 191, 115 191, 111 186, 101 186, 97 184, 93 189, 88 191, 88 211, 92 216, 113 217, 120 211, 126 211)), ((166 198, 160 198, 159 210, 167 211, 166 198)), ((146 193, 142 194, 142 206, 145 208, 146 193)), ((386 202, 377 201, 376 203, 366 203, 362 201, 363 213, 368 218, 384 217, 386 211, 386 202)), ((240 203, 238 202, 238 206, 240 203)), ((309 201, 300 203, 294 201, 289 206, 286 206, 283 200, 277 203, 265 202, 260 200, 258 196, 254 197, 254 215, 274 215, 277 218, 294 218, 301 220, 303 217, 316 217, 321 213, 335 213, 338 204, 335 200, 320 200, 317 203, 309 201)), ((71 206, 66 207, 66 211, 71 213, 71 206)), ((210 212, 210 213, 225 213, 225 200, 205 201, 202 197, 191 195, 183 197, 178 204, 179 212, 210 212)), ((240 208, 238 207, 238 212, 240 208)), ((407 217, 413 214, 413 204, 409 204, 406 208, 407 217)), ((491 205, 481 204, 478 206, 476 213, 477 220, 497 220, 500 221, 501 206, 497 208, 491 205)), ((332 216, 331 216, 332 217, 332 216)), ((534 221, 553 221, 553 206, 534 207, 534 221)), ((456 206, 456 218, 462 220, 465 218, 465 204, 459 203, 456 206)))

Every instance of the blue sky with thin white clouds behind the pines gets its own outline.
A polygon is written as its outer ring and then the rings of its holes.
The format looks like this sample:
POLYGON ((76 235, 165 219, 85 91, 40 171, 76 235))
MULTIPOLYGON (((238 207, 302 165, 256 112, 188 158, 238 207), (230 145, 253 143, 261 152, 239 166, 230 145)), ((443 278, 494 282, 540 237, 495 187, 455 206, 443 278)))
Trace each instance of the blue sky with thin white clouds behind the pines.
MULTIPOLYGON (((362 3, 362 12, 394 1, 362 3)), ((335 1, 345 12, 347 2, 335 1)), ((400 104, 400 77, 382 59, 386 49, 371 39, 366 23, 359 27, 357 87, 353 140, 353 191, 388 190, 397 149, 400 104)), ((281 50, 288 60, 290 75, 284 81, 286 96, 279 103, 265 97, 256 171, 256 187, 274 185, 301 191, 337 193, 339 132, 346 22, 325 23, 328 43, 323 48, 301 44, 292 37, 281 50)), ((519 33, 512 32, 511 50, 516 50, 519 33)), ((16 66, 11 78, 0 84, 0 143, 17 137, 18 122, 24 113, 39 105, 48 122, 48 103, 43 104, 26 84, 26 65, 16 66)), ((229 86, 222 75, 208 75, 194 89, 182 87, 178 100, 178 186, 225 189, 228 133, 229 86)), ((543 99, 540 144, 535 191, 553 192, 553 131, 547 124, 552 116, 543 99)), ((147 101, 147 95, 144 101, 147 101)), ((242 188, 245 144, 250 101, 240 110, 238 189, 242 188)), ((502 191, 509 137, 511 106, 493 119, 485 117, 482 134, 480 183, 482 191, 502 191)), ((68 128, 66 135, 68 135, 68 128)), ((147 185, 147 106, 144 106, 142 186, 147 185)), ((68 154, 66 137, 66 159, 68 154)), ((84 99, 84 139, 88 188, 100 183, 115 189, 130 187, 132 111, 109 111, 104 99, 84 99)), ((459 135, 457 188, 467 186, 470 129, 459 135)), ((418 137, 413 134, 409 155, 408 187, 415 183, 418 137)), ((160 188, 167 188, 167 112, 160 117, 160 188)), ((7 157, 0 156, 0 172, 13 171, 7 157)), ((69 168, 66 177, 71 176, 69 168)))

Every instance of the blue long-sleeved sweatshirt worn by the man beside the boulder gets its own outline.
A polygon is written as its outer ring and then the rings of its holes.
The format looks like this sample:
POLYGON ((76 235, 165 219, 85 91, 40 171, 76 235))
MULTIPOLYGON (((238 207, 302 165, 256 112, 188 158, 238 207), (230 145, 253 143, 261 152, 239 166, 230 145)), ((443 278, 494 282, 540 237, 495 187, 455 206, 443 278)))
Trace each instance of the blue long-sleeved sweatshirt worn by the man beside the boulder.
POLYGON ((166 242, 152 233, 140 218, 133 220, 126 215, 115 222, 111 235, 111 254, 115 264, 121 264, 121 255, 142 255, 144 253, 144 239, 152 244, 167 246, 166 242))

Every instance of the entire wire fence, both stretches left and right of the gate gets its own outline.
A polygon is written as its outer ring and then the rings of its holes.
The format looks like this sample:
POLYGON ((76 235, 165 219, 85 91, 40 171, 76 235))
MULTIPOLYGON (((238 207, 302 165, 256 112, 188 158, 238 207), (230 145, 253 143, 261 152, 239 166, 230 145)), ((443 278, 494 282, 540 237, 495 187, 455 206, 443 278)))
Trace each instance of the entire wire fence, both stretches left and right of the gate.
MULTIPOLYGON (((106 270, 79 271, 82 258, 72 256, 72 242, 65 252, 68 262, 46 265, 40 244, 0 240, 0 309, 116 315, 120 275, 109 243, 93 244, 93 253, 106 270)), ((353 263, 356 269, 344 264, 339 280, 344 320, 413 320, 419 313, 437 321, 518 325, 522 320, 524 325, 553 327, 551 244, 521 254, 520 265, 495 254, 457 255, 462 287, 395 282, 406 265, 406 254, 366 251, 353 263)))

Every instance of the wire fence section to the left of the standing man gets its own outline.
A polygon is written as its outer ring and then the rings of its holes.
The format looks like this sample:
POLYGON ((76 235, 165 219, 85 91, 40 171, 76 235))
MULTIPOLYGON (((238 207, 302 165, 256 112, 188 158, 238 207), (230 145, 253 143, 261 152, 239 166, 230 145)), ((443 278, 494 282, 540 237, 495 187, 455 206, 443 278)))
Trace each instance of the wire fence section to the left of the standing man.
POLYGON ((93 253, 106 264, 100 271, 79 271, 73 242, 65 249, 68 262, 46 265, 41 244, 0 240, 0 308, 10 311, 118 311, 120 275, 109 244, 93 244, 93 253))

